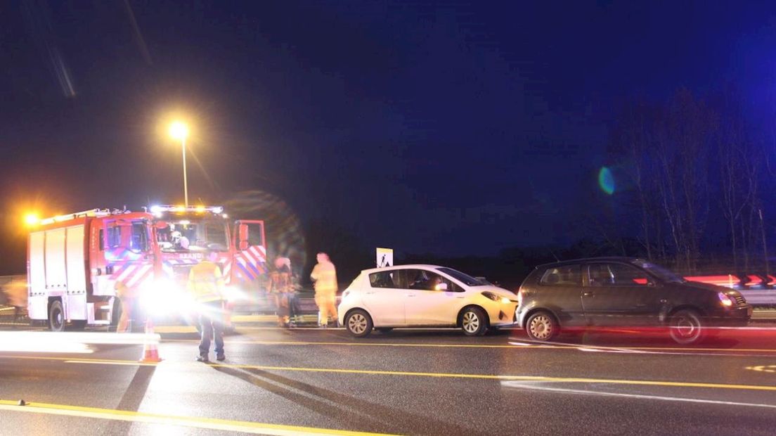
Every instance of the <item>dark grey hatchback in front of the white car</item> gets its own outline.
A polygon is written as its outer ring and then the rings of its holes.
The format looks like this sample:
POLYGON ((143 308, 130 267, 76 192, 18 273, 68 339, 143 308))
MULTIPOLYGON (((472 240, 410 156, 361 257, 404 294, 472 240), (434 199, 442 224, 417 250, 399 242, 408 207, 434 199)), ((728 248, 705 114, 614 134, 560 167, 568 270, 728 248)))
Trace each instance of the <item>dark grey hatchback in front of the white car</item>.
POLYGON ((549 341, 565 327, 669 327, 680 344, 704 327, 744 326, 752 306, 733 289, 688 282, 637 258, 590 258, 540 265, 518 292, 518 324, 549 341))

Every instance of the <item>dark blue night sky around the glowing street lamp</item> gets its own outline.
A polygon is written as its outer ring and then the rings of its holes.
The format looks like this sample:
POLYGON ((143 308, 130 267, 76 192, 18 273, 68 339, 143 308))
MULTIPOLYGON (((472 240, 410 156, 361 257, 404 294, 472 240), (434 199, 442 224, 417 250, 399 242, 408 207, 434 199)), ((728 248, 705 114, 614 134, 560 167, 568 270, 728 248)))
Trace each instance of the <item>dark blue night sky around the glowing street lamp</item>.
POLYGON ((27 208, 182 202, 178 114, 192 202, 263 190, 404 252, 567 244, 622 102, 734 83, 757 117, 776 86, 772 2, 29 0, 0 41, 9 239, 27 208))

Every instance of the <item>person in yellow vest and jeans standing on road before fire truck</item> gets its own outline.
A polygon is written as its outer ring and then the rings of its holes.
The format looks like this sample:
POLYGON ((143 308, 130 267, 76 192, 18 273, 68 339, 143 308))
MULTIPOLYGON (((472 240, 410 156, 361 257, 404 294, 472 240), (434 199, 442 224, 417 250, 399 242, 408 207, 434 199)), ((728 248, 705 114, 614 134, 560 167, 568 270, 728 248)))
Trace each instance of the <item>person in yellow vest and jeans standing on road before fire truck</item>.
POLYGON ((199 306, 199 325, 202 336, 199 340, 198 362, 208 362, 210 339, 216 342, 216 358, 223 361, 223 275, 216 261, 218 253, 208 251, 207 258, 194 265, 189 272, 189 292, 199 306))

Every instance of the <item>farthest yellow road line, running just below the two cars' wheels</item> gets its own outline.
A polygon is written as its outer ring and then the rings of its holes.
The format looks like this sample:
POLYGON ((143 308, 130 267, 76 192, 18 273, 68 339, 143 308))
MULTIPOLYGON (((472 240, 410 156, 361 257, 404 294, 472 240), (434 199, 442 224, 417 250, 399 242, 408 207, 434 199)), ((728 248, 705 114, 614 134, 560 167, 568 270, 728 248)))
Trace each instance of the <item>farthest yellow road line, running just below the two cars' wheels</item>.
MULTIPOLYGON (((162 342, 199 342, 198 339, 162 339, 162 342)), ((574 344, 417 344, 397 342, 336 342, 336 341, 251 341, 244 339, 227 339, 227 344, 257 344, 257 345, 344 345, 353 347, 408 347, 408 348, 521 348, 521 349, 555 349, 577 350, 579 348, 597 348, 600 350, 655 350, 655 351, 726 351, 726 352, 761 352, 776 353, 776 348, 692 348, 692 347, 608 347, 605 345, 574 345, 574 344)))

